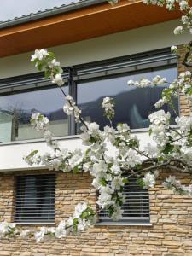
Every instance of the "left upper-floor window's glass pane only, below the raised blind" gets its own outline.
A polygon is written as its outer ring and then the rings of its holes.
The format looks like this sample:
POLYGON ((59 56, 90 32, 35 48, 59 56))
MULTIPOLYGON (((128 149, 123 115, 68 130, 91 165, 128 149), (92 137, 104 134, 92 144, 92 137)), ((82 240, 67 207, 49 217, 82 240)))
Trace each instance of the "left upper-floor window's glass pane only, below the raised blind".
MULTIPOLYGON (((64 88, 68 93, 68 87, 64 88)), ((42 137, 30 125, 32 113, 43 113, 50 120, 49 130, 55 136, 68 134, 67 115, 63 113, 65 102, 59 88, 33 90, 8 96, 0 96, 0 142, 21 141, 42 137)))

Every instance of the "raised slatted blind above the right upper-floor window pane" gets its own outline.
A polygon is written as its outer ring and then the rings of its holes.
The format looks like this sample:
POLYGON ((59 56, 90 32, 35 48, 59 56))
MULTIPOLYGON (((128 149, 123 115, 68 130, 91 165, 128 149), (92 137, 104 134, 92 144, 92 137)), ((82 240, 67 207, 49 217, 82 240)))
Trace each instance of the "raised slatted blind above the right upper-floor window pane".
POLYGON ((135 73, 144 69, 176 67, 176 65, 177 55, 172 54, 170 49, 160 49, 143 54, 74 66, 73 80, 93 79, 119 73, 135 73))

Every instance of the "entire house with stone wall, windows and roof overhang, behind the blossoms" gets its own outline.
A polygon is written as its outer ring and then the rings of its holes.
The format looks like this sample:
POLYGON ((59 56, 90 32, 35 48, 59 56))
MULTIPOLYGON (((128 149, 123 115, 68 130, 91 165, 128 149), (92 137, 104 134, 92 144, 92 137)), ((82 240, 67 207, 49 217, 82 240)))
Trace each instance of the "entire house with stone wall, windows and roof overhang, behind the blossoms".
MULTIPOLYGON (((62 173, 23 160, 31 149, 47 152, 42 135, 30 126, 33 112, 50 119, 50 130, 63 148, 84 148, 79 126, 62 111, 60 90, 30 65, 34 49, 48 48, 61 66, 67 93, 84 119, 106 125, 102 97, 113 96, 114 123, 128 123, 143 143, 148 137, 148 114, 162 88, 130 89, 128 79, 160 74, 175 79, 182 72, 183 44, 189 34, 174 36, 179 14, 141 2, 84 0, 58 9, 0 23, 0 221, 23 229, 54 226, 68 218, 78 202, 96 207, 96 191, 88 173, 62 173), (170 47, 179 45, 179 57, 170 47)), ((179 114, 190 106, 180 96, 179 114)), ((168 108, 165 109, 169 110, 168 108)), ((172 124, 174 125, 174 113, 172 124)), ((192 255, 192 199, 162 188, 141 189, 134 180, 125 187, 125 214, 119 222, 102 212, 97 223, 79 236, 65 239, 0 240, 0 255, 192 255)), ((191 183, 188 174, 181 176, 191 183)))

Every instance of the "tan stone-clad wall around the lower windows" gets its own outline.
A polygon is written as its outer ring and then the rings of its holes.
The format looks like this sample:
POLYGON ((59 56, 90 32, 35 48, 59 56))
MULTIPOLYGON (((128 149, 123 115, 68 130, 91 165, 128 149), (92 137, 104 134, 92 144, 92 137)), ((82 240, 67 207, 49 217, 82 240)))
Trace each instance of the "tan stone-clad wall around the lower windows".
MULTIPOLYGON (((182 46, 179 53, 178 72, 182 72, 185 70, 182 46)), ((189 102, 183 96, 180 96, 180 112, 184 115, 191 112, 189 102)), ((15 176, 37 173, 45 172, 0 173, 0 221, 14 221, 15 176)), ((167 175, 164 172, 160 179, 167 175)), ((191 183, 191 178, 183 174, 182 183, 191 183)), ((3 239, 0 240, 0 256, 192 256, 192 198, 173 195, 172 191, 162 188, 160 180, 149 190, 149 197, 151 226, 95 225, 79 236, 45 240, 39 244, 34 239, 3 239)), ((89 174, 56 172, 55 223, 70 216, 79 201, 96 206, 96 191, 91 187, 89 174)), ((23 226, 28 227, 37 228, 23 226)))

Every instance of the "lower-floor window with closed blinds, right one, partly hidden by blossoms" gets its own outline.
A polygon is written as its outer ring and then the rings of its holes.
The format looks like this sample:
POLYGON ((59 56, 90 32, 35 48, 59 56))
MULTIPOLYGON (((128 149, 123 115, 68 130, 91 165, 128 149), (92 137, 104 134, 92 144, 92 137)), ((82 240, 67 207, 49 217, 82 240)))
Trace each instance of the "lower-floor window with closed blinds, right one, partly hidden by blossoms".
MULTIPOLYGON (((148 189, 143 189, 137 184, 136 178, 129 179, 129 183, 125 185, 125 204, 122 206, 124 210, 123 218, 119 219, 119 223, 149 223, 149 195, 148 189)), ((99 213, 100 223, 116 223, 108 217, 106 211, 99 213)))

